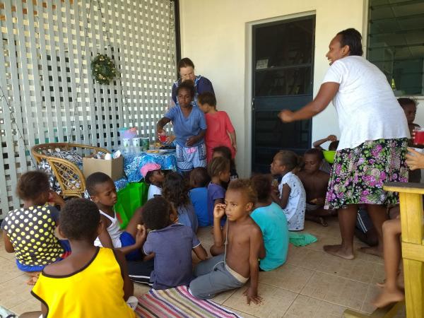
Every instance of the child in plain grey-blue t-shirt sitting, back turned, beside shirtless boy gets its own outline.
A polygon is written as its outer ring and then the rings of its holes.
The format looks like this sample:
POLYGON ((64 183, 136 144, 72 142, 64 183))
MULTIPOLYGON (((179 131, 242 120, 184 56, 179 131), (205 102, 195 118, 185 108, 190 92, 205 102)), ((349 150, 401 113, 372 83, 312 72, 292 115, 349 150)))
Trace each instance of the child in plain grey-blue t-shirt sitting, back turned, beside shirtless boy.
POLYGON ((188 226, 176 223, 177 211, 163 197, 143 206, 144 226, 151 230, 143 245, 145 254, 155 254, 151 281, 155 289, 189 285, 192 281, 192 250, 204 260, 207 253, 188 226))

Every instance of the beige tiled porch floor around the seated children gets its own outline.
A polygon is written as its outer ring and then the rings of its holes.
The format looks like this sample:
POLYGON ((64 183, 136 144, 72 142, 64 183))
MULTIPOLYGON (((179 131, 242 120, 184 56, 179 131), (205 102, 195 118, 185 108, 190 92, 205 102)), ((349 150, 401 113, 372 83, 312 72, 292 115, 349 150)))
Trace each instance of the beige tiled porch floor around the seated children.
MULTIPOLYGON (((338 318, 346 308, 372 312, 370 300, 379 289, 375 283, 384 278, 382 259, 358 252, 356 259, 346 261, 322 251, 322 246, 339 242, 336 218, 329 227, 306 222, 305 231, 318 237, 307 247, 290 245, 287 264, 270 272, 259 273, 259 295, 264 305, 247 305, 244 288, 218 295, 214 300, 242 317, 338 318)), ((199 239, 208 249, 213 239, 211 230, 199 230, 199 239)), ((363 246, 355 241, 356 247, 363 246)), ((0 243, 0 305, 17 314, 39 310, 40 303, 30 295, 26 277, 16 269, 13 254, 0 243)), ((135 294, 148 288, 135 286, 135 294)), ((396 317, 405 317, 401 312, 396 317)))

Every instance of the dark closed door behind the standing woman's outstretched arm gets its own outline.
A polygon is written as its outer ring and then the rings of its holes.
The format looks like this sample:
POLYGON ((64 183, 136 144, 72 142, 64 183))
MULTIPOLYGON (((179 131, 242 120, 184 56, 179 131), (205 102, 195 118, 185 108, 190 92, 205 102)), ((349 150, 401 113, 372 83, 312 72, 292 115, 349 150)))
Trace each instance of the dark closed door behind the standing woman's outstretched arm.
POLYGON ((310 147, 312 120, 283 124, 277 114, 312 100, 314 30, 314 16, 253 28, 252 172, 269 172, 279 150, 310 147))

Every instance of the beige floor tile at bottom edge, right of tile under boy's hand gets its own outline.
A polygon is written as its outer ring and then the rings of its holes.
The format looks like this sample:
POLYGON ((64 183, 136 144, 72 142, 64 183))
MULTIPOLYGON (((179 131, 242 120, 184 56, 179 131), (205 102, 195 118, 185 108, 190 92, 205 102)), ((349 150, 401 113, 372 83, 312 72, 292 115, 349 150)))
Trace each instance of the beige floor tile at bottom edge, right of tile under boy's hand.
POLYGON ((299 295, 285 313, 285 318, 340 318, 346 308, 323 300, 299 295))

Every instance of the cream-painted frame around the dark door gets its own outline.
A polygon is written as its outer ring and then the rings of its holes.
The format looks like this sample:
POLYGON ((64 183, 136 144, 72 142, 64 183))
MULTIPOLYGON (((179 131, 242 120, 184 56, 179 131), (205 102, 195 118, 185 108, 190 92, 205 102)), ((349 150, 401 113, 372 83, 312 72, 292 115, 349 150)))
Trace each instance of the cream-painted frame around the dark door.
MULTIPOLYGON (((262 20, 255 20, 247 22, 245 25, 245 169, 242 175, 250 176, 252 174, 252 102, 253 102, 253 27, 254 25, 266 23, 278 23, 284 20, 294 20, 297 18, 305 18, 307 16, 315 16, 317 18, 317 11, 305 11, 299 13, 288 14, 286 16, 278 16, 274 18, 266 18, 262 20)), ((315 49, 314 49, 315 51, 315 49)), ((314 57, 315 52, 313 52, 314 57)), ((312 76, 314 75, 315 64, 312 69, 312 76)), ((314 81, 312 82, 312 96, 314 96, 314 81)))

